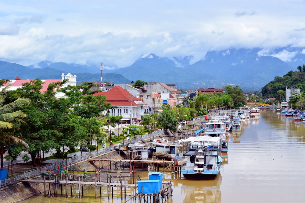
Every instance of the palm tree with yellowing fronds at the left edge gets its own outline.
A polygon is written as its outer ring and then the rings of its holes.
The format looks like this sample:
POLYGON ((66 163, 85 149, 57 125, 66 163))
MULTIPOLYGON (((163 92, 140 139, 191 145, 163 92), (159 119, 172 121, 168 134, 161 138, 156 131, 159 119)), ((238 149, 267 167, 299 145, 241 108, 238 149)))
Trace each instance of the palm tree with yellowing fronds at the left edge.
POLYGON ((30 100, 24 98, 18 98, 11 103, 5 103, 7 99, 8 87, 3 88, 0 91, 0 156, 1 156, 1 168, 3 168, 3 154, 4 145, 6 144, 19 144, 29 150, 29 145, 22 139, 12 135, 14 130, 13 123, 23 122, 22 118, 27 115, 21 110, 22 107, 30 104, 30 100), (14 111, 17 110, 17 111, 14 111))

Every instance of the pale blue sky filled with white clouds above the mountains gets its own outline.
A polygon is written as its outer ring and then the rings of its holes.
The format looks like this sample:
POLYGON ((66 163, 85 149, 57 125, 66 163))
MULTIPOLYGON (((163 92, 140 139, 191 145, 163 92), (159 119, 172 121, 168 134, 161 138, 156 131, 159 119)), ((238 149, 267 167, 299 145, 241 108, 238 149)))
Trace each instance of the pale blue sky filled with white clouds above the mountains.
MULTIPOLYGON (((305 47, 301 0, 0 0, 0 61, 40 61, 122 68, 160 57, 262 49, 283 61, 305 47)), ((305 54, 305 51, 304 51, 305 54)))

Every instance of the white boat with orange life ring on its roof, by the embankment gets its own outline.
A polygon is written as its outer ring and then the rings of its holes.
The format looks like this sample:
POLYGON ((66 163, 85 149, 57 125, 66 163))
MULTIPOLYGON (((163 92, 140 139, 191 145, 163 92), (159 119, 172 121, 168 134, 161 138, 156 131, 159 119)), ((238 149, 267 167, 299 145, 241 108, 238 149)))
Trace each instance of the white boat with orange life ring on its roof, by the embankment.
POLYGON ((157 159, 162 160, 175 160, 179 159, 179 147, 181 144, 170 142, 167 139, 159 138, 150 142, 149 154, 151 157, 155 156, 157 159))

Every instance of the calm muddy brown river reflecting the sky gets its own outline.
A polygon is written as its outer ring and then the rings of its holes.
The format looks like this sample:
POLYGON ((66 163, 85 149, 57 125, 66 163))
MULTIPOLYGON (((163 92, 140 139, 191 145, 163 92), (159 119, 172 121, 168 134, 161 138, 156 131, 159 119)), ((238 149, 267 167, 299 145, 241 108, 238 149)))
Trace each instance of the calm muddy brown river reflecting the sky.
MULTIPOLYGON (((173 196, 165 203, 305 202, 305 122, 263 110, 260 116, 242 121, 241 132, 230 132, 227 139, 228 154, 223 154, 221 173, 215 180, 185 180, 164 174, 163 181, 173 184, 173 196)), ((138 175, 148 179, 148 172, 138 175)), ((94 187, 85 192, 81 199, 42 195, 22 202, 122 203, 129 199, 95 199, 94 187)))

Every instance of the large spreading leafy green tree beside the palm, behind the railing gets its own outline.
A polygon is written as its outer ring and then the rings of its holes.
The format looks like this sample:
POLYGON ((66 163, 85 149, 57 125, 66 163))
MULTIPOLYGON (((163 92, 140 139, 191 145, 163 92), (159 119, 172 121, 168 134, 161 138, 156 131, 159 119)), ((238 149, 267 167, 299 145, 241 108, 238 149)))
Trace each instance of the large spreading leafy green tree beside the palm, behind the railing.
POLYGON ((36 156, 40 151, 49 152, 57 149, 59 157, 64 157, 65 147, 74 148, 88 142, 90 131, 97 132, 100 124, 90 118, 98 117, 103 110, 111 105, 104 103, 105 96, 94 96, 88 86, 68 85, 66 80, 51 83, 45 93, 41 93, 43 82, 39 79, 24 83, 23 87, 13 91, 11 98, 23 96, 32 100, 24 112, 28 115, 27 124, 20 129, 24 140, 30 146, 33 166, 36 167, 36 156), (56 91, 54 91, 56 89, 56 91), (56 98, 56 93, 66 96, 56 98), (62 153, 60 147, 63 147, 62 153), (63 155, 63 156, 61 156, 63 155))

